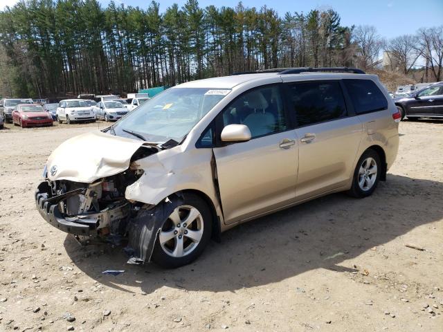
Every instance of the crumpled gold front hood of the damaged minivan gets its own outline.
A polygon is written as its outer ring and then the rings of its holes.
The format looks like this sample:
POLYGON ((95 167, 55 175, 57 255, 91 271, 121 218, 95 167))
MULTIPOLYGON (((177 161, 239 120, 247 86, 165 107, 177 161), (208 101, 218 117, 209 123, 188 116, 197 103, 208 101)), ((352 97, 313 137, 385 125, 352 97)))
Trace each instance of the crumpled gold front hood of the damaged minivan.
POLYGON ((143 143, 101 131, 75 136, 49 156, 48 178, 92 183, 98 178, 118 174, 129 167, 132 155, 143 143))

